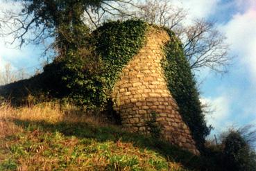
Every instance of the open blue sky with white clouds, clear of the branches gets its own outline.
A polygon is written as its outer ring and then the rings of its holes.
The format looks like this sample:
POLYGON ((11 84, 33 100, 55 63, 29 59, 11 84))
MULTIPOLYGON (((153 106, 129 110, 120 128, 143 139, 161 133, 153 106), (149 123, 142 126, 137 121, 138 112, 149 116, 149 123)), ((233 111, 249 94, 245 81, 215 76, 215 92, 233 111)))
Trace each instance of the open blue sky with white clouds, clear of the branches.
MULTIPOLYGON (((214 127, 212 135, 231 126, 256 125, 256 0, 173 0, 173 4, 188 10, 188 23, 202 17, 216 21, 230 44, 230 55, 236 56, 224 75, 199 73, 198 81, 203 81, 200 100, 212 109, 205 116, 207 124, 214 127)), ((0 9, 8 6, 0 0, 0 9)), ((4 42, 1 37, 0 69, 8 63, 14 70, 40 66, 41 46, 19 49, 4 42)))

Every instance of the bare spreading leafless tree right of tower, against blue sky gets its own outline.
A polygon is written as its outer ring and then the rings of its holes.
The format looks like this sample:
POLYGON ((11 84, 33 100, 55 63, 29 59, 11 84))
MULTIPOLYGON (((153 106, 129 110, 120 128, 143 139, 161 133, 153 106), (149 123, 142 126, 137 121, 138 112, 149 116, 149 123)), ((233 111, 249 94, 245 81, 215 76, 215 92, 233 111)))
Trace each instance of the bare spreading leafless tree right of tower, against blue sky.
POLYGON ((180 34, 183 48, 191 69, 209 68, 219 73, 226 71, 232 56, 228 54, 229 46, 225 36, 214 27, 214 23, 196 20, 180 34))

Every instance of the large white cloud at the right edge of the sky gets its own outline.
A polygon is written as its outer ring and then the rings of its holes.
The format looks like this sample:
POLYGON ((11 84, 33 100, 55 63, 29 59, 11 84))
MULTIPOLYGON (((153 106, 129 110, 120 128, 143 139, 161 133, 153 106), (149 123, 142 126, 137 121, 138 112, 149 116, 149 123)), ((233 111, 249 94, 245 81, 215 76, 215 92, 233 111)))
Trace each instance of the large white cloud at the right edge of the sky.
MULTIPOLYGON (((255 3, 256 4, 256 3, 255 3)), ((238 13, 221 26, 221 30, 231 44, 231 51, 239 57, 239 62, 248 68, 250 77, 256 84, 256 8, 244 14, 238 13)))

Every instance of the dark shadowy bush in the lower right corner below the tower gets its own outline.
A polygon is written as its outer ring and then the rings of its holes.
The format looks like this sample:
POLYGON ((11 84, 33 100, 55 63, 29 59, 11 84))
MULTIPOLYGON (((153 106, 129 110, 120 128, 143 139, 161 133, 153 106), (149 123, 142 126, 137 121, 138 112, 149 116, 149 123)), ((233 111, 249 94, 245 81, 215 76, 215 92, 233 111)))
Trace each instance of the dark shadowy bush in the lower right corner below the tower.
MULTIPOLYGON (((246 130, 248 131, 248 128, 246 130)), ((248 138, 255 138, 255 131, 241 132, 241 129, 230 129, 222 134, 219 144, 208 142, 203 156, 205 158, 205 170, 212 167, 216 171, 254 171, 256 153, 248 138)))

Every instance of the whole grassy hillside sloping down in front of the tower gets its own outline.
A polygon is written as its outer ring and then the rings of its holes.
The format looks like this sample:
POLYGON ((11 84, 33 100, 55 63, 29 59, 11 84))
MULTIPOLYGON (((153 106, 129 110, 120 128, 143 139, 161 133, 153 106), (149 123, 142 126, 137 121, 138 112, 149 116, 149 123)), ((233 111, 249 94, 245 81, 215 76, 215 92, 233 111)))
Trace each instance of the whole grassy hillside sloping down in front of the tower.
POLYGON ((192 170, 198 157, 71 105, 0 107, 0 170, 192 170), (187 169, 185 169, 187 168, 187 169))

